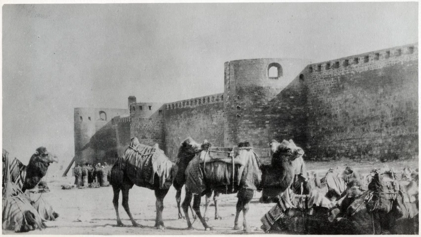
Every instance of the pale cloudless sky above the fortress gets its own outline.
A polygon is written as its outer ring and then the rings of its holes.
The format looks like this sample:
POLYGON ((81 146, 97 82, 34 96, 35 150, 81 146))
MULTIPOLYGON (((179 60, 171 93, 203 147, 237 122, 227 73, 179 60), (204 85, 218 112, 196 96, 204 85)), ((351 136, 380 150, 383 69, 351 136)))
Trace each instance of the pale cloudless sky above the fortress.
MULTIPOLYGON (((312 63, 418 42, 418 2, 2 6, 2 146, 66 166, 77 107, 222 93, 224 63, 312 63)), ((65 168, 65 167, 64 167, 65 168)))

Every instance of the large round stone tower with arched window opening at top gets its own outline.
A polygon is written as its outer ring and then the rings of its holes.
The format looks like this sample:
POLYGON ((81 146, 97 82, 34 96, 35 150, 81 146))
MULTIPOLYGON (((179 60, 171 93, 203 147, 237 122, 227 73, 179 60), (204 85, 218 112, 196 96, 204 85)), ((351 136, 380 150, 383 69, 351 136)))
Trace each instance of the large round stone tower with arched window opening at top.
POLYGON ((224 146, 272 139, 305 141, 305 59, 245 59, 225 63, 224 146))

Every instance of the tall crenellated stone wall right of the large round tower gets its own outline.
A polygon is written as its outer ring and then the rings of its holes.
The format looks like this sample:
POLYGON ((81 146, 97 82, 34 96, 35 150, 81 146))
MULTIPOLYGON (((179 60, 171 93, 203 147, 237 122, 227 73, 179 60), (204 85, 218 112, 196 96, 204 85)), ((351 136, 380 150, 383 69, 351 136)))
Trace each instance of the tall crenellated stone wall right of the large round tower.
POLYGON ((308 67, 310 159, 418 158, 418 45, 308 67))

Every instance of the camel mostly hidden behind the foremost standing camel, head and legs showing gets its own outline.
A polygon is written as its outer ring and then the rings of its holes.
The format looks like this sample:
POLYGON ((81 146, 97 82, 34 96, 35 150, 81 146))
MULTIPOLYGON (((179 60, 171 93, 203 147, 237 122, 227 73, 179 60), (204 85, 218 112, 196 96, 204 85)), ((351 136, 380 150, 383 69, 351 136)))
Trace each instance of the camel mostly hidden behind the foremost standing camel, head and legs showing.
MULTIPOLYGON (((181 213, 180 202, 181 202, 181 190, 186 183, 186 175, 185 171, 188 165, 188 162, 192 158, 194 158, 198 153, 203 150, 208 150, 211 147, 210 142, 204 140, 202 144, 195 142, 191 137, 186 138, 181 144, 179 148, 179 152, 177 154, 177 175, 174 179, 174 188, 177 190, 176 193, 176 201, 177 201, 177 208, 178 208, 178 217, 179 219, 183 218, 183 214, 181 213)), ((209 206, 210 197, 212 195, 212 191, 206 194, 206 210, 209 206)), ((220 219, 221 217, 218 214, 218 200, 217 197, 219 193, 214 193, 214 202, 215 202, 215 219, 220 219)), ((205 210, 205 214, 206 214, 205 210)), ((204 215, 203 215, 204 216, 204 215)))

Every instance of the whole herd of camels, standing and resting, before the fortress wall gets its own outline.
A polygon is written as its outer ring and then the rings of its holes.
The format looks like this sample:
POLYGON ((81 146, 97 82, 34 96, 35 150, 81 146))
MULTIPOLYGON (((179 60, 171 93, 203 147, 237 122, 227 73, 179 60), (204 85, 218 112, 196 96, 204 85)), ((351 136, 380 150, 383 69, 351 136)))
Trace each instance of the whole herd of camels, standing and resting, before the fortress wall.
MULTIPOLYGON (((330 168, 319 179, 314 172, 307 172, 302 158, 304 151, 292 140, 283 140, 281 143, 273 140, 269 146, 272 150, 271 164, 264 165, 248 142, 239 143, 235 149, 218 150, 206 140, 197 143, 187 138, 180 144, 177 160, 172 162, 157 145, 142 145, 137 138, 133 138, 124 154, 106 171, 107 175, 102 175, 107 177, 113 188, 117 225, 124 226, 118 210, 121 192, 122 206, 132 225, 142 227, 134 220, 129 208, 129 190, 136 185, 155 192, 155 227, 165 229, 162 219, 163 199, 169 188, 174 186, 177 191, 178 218, 186 218, 187 229, 192 229, 188 213, 190 209, 205 230, 212 230, 205 218, 210 197, 214 194, 215 219, 220 219, 218 197, 221 194, 236 193, 238 200, 234 230, 243 229, 248 232, 249 202, 254 191, 262 191, 260 202, 276 203, 261 219, 261 228, 268 233, 418 233, 418 169, 406 168, 398 177, 393 169, 384 167, 363 177, 351 167, 345 170, 330 168), (181 203, 183 187, 186 195, 181 203), (206 196, 203 215, 200 212, 202 196, 206 196), (241 212, 242 225, 238 223, 241 212)), ((16 204, 16 198, 22 199, 25 190, 37 186, 46 174, 49 163, 56 161, 56 158, 49 155, 46 149, 37 150, 28 166, 24 167, 20 161, 13 160, 16 164, 12 164, 5 154, 3 150, 3 214, 4 203, 11 214, 3 215, 3 229, 23 232, 44 228, 42 223, 48 218, 45 210, 48 209, 49 215, 53 216, 52 208, 44 202, 41 205, 33 203, 38 208, 34 211, 25 201, 16 204), (26 209, 22 213, 18 211, 22 208, 13 208, 25 205, 26 209)), ((87 176, 89 166, 85 168, 87 176)), ((97 170, 100 169, 98 167, 97 170)), ((76 180, 79 186, 88 183, 82 181, 84 178, 76 180)))

